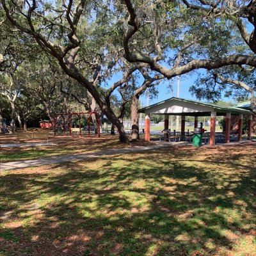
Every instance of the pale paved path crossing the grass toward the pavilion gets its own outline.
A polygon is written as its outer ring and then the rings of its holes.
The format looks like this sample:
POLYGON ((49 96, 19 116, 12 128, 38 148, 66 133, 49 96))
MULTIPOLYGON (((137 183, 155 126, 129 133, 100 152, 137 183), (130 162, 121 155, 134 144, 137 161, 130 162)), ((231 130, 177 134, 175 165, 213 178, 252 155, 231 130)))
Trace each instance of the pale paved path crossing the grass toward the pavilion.
POLYGON ((94 153, 84 153, 84 154, 72 154, 72 155, 65 155, 65 156, 54 156, 54 157, 46 157, 42 159, 35 159, 35 160, 23 160, 23 161, 15 161, 9 163, 0 163, 0 172, 4 170, 15 170, 20 168, 27 168, 32 166, 40 166, 43 164, 56 164, 56 163, 63 163, 69 162, 73 160, 84 160, 88 158, 94 157, 101 157, 101 156, 109 156, 109 155, 116 155, 116 154, 127 154, 130 152, 140 152, 155 148, 163 148, 168 147, 170 145, 186 145, 186 142, 163 142, 157 143, 156 145, 150 145, 147 147, 140 147, 135 146, 132 148, 121 148, 121 149, 113 149, 108 151, 100 151, 94 153))

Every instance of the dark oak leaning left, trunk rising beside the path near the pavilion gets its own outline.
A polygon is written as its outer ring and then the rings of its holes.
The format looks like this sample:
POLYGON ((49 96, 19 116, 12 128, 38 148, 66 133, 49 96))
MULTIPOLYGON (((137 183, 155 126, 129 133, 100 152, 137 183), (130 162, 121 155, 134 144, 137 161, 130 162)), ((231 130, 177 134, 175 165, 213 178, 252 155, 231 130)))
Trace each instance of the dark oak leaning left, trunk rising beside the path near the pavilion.
MULTIPOLYGON (((100 63, 109 51, 104 35, 100 35, 100 31, 106 32, 97 26, 97 10, 100 8, 107 17, 109 15, 116 20, 108 3, 84 0, 70 0, 62 4, 41 1, 1 3, 13 26, 33 36, 45 52, 54 56, 63 71, 88 90, 104 115, 117 127, 120 141, 128 141, 123 125, 111 109, 108 91, 106 97, 102 97, 95 86, 100 63), (95 35, 98 35, 98 40, 95 35)), ((111 28, 112 23, 111 20, 106 20, 111 28)), ((116 33, 115 29, 108 32, 116 33)))

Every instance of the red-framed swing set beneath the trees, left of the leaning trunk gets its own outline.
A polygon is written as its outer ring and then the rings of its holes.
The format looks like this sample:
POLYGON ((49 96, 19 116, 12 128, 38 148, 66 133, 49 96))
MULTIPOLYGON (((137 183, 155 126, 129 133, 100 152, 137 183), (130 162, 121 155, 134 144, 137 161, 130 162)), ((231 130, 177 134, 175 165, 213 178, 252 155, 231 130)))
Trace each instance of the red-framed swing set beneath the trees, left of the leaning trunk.
POLYGON ((100 116, 97 112, 80 112, 80 113, 58 113, 54 116, 54 135, 56 135, 56 128, 57 127, 63 127, 63 133, 66 135, 67 130, 69 131, 69 134, 71 136, 72 129, 72 116, 77 116, 79 120, 79 134, 81 135, 81 118, 83 118, 84 115, 88 115, 87 118, 87 124, 88 124, 88 136, 90 136, 90 118, 92 118, 92 115, 95 115, 97 118, 97 132, 100 137, 100 116))

